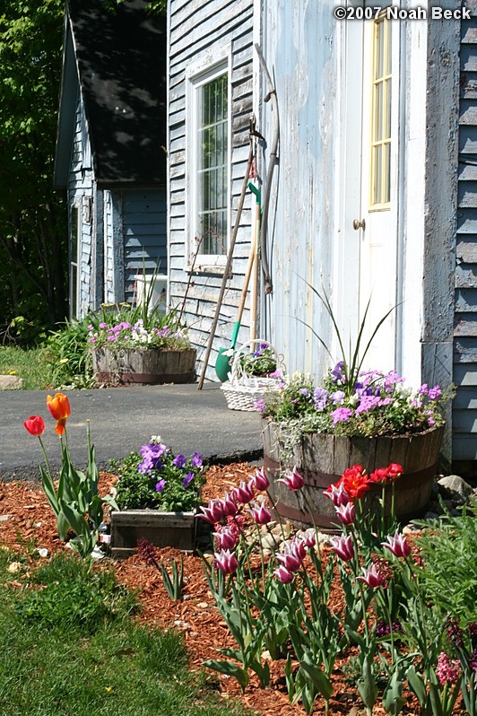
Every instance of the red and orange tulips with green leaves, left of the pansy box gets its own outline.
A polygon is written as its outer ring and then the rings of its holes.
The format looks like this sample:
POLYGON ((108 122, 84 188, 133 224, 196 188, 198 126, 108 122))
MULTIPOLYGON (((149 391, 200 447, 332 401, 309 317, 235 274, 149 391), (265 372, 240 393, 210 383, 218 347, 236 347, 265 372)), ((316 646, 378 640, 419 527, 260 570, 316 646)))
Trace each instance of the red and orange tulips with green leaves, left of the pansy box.
POLYGON ((99 472, 96 465, 94 446, 91 445, 90 425, 88 423, 88 466, 86 472, 74 467, 66 432, 66 420, 71 415, 68 398, 63 393, 47 397, 50 414, 56 419, 55 431, 60 436, 62 465, 57 481, 49 467, 48 455, 41 435, 45 431, 45 422, 40 415, 31 415, 23 424, 31 435, 39 438, 41 450, 45 456, 45 467, 40 466, 41 485, 48 502, 56 514, 56 527, 61 539, 66 538, 68 529, 73 529, 75 537, 70 540, 82 557, 91 555, 98 543, 99 528, 103 519, 103 502, 117 509, 117 503, 110 495, 100 497, 98 490, 99 472))

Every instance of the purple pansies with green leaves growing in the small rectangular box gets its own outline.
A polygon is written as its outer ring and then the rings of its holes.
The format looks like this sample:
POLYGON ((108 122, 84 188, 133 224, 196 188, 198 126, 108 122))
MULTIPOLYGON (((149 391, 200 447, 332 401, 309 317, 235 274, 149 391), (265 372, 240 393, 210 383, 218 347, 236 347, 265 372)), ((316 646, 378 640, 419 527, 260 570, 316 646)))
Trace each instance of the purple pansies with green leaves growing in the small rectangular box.
POLYGON ((120 510, 194 511, 201 500, 205 482, 204 460, 200 452, 186 458, 175 455, 153 435, 139 452, 115 460, 116 500, 120 510))

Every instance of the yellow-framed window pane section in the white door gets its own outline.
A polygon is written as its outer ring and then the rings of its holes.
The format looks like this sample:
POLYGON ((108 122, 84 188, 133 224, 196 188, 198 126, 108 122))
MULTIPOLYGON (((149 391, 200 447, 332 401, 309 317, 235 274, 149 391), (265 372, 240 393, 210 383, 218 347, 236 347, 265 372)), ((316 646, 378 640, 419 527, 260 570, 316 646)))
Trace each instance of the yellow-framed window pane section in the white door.
POLYGON ((386 208, 391 185, 391 22, 374 23, 370 208, 386 208))

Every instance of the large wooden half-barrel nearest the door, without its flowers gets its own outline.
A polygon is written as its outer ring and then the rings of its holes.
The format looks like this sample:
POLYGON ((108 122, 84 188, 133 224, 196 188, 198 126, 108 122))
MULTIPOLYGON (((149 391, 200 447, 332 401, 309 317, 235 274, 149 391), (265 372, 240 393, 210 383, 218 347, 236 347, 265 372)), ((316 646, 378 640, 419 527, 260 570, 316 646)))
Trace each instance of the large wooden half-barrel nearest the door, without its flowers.
MULTIPOLYGON (((318 528, 334 531, 337 520, 333 503, 324 495, 326 487, 337 482, 352 465, 362 465, 370 474, 392 462, 404 469, 395 481, 396 517, 405 522, 426 510, 438 469, 444 426, 394 437, 337 437, 308 432, 294 445, 292 455, 285 458, 286 427, 266 420, 264 423, 264 462, 272 477, 270 492, 275 511, 281 518, 297 525, 315 523, 318 528), (297 492, 276 482, 283 470, 295 465, 305 480, 303 490, 297 492)), ((371 494, 380 497, 381 489, 381 485, 372 485, 371 494)), ((388 511, 390 491, 386 493, 388 511)))

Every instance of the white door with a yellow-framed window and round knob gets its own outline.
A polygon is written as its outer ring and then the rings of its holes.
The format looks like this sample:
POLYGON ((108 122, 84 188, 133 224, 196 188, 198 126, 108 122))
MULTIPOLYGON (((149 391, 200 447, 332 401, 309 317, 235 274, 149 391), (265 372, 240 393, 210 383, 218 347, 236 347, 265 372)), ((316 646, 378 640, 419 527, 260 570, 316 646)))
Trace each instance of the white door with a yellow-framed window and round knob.
MULTIPOLYGON (((363 4, 353 5, 359 15, 363 4)), ((346 120, 337 261, 342 291, 337 301, 343 301, 339 314, 352 342, 370 300, 364 347, 397 296, 399 22, 387 20, 386 13, 344 22, 346 120)), ((394 310, 373 340, 366 367, 395 368, 395 324, 394 310)))

